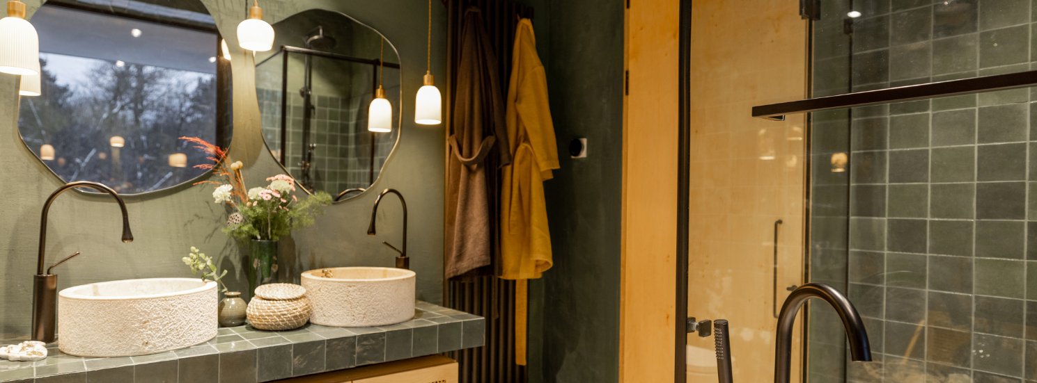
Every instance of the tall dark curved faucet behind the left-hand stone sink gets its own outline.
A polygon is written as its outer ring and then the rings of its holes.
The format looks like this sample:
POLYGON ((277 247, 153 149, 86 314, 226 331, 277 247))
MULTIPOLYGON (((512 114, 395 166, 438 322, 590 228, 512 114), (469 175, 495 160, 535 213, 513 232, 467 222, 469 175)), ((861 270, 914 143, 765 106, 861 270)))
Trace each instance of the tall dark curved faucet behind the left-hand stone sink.
POLYGON ((133 233, 130 232, 130 216, 127 214, 127 205, 122 202, 122 198, 119 197, 119 194, 115 193, 115 190, 111 187, 97 182, 76 181, 68 182, 64 184, 64 186, 58 187, 57 190, 54 190, 54 194, 52 194, 51 197, 47 199, 47 203, 44 204, 44 213, 41 214, 43 217, 39 223, 39 261, 36 263, 36 274, 33 275, 32 281, 33 341, 44 343, 54 342, 54 306, 57 302, 58 276, 51 273, 51 270, 79 255, 79 252, 76 252, 76 254, 73 254, 47 268, 47 273, 44 273, 44 253, 47 247, 47 212, 50 211, 51 204, 54 202, 54 199, 58 197, 58 195, 73 187, 89 187, 97 192, 108 193, 114 197, 115 201, 119 203, 119 208, 122 209, 122 242, 133 242, 133 233))

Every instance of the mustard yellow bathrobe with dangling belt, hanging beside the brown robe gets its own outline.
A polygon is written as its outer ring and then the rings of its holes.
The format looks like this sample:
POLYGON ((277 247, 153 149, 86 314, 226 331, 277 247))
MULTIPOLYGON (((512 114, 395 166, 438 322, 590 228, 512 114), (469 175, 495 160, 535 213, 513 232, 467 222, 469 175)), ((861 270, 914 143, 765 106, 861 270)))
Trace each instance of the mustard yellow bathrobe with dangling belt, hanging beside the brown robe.
POLYGON ((551 268, 543 181, 558 169, 548 81, 529 19, 518 21, 506 101, 511 165, 501 170, 501 277, 515 286, 515 362, 526 364, 526 279, 551 268))

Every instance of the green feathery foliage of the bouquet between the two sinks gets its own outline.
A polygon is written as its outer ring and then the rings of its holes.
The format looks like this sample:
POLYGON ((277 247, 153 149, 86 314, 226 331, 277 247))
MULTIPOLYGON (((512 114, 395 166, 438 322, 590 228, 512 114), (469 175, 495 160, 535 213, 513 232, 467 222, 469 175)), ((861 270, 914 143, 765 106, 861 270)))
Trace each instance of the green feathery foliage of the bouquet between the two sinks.
POLYGON ((325 192, 316 192, 298 202, 281 202, 280 198, 269 201, 253 199, 244 206, 239 206, 245 220, 228 225, 223 228, 223 233, 239 241, 276 241, 290 234, 292 229, 313 225, 314 217, 324 214, 321 207, 331 205, 331 196, 325 192))

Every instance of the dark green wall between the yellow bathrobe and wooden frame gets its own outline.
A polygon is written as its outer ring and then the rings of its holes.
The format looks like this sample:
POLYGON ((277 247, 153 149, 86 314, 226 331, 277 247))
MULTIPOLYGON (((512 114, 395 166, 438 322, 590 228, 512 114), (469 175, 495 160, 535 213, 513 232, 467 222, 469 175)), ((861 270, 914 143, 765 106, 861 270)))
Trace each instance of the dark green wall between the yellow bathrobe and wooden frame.
POLYGON ((561 163, 544 182, 555 264, 530 284, 530 381, 617 382, 623 2, 529 4, 561 163), (569 158, 580 137, 588 157, 569 158))

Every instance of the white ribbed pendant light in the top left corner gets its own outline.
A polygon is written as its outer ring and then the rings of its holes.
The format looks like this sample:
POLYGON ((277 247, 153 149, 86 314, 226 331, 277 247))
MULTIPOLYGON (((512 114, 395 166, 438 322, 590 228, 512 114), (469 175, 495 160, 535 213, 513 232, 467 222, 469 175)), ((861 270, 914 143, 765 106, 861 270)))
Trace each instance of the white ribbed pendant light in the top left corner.
POLYGON ((25 3, 7 2, 7 17, 0 19, 0 72, 39 75, 39 36, 25 21, 25 3))

